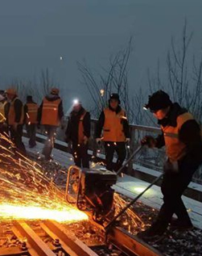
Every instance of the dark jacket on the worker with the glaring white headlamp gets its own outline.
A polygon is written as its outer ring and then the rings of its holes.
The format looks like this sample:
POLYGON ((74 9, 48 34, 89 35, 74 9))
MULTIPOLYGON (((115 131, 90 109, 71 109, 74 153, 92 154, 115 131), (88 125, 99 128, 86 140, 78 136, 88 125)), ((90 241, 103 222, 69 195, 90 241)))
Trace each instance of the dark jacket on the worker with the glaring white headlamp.
MULTIPOLYGON (((80 116, 83 115, 85 112, 84 107, 81 107, 80 111, 72 111, 68 117, 68 127, 65 132, 66 134, 66 141, 72 141, 73 144, 78 144, 78 133, 79 133, 79 123, 80 123, 80 116)), ((89 138, 90 136, 90 114, 86 111, 84 120, 84 134, 89 138)))

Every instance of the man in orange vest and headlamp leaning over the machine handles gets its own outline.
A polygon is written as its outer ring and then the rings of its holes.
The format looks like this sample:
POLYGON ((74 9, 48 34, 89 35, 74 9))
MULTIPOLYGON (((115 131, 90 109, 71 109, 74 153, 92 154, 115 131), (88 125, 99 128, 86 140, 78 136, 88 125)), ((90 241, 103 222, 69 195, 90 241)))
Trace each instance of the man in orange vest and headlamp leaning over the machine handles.
POLYGON ((150 148, 161 148, 165 145, 167 153, 161 185, 163 205, 157 220, 150 228, 138 233, 138 237, 149 241, 159 239, 169 223, 171 229, 193 228, 181 196, 202 163, 202 141, 200 125, 194 117, 178 103, 172 103, 163 90, 152 94, 145 107, 155 115, 161 125, 162 134, 157 138, 145 136, 142 144, 150 148), (176 220, 172 220, 174 213, 176 220))

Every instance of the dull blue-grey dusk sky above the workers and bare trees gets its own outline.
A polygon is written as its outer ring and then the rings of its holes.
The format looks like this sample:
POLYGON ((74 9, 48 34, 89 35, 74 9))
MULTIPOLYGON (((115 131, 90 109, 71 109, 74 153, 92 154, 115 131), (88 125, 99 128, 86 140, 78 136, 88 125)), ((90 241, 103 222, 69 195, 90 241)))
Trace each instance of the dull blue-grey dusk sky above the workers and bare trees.
POLYGON ((171 36, 179 40, 185 17, 194 31, 191 52, 201 53, 201 14, 201 0, 1 0, 0 86, 13 78, 32 80, 48 68, 63 97, 86 103, 76 61, 85 59, 99 72, 134 36, 133 92, 146 86, 147 68, 155 69, 158 58, 163 63, 171 36))

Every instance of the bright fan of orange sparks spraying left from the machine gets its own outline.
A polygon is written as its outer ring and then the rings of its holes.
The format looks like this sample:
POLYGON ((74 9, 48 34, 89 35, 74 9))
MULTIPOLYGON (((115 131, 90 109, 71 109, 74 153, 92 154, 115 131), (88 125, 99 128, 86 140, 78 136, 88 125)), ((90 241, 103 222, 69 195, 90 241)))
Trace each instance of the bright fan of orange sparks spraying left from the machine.
POLYGON ((36 162, 20 153, 0 134, 0 220, 86 220, 84 212, 68 205, 64 194, 36 162))

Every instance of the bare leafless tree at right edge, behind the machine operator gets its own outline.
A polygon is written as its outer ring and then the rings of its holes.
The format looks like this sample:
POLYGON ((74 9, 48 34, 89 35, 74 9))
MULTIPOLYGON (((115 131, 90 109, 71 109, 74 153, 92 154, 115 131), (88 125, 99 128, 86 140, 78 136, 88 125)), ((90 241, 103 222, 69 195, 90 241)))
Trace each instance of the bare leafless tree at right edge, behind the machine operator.
POLYGON ((185 19, 180 44, 171 37, 171 48, 167 52, 167 79, 160 78, 159 61, 155 77, 148 73, 148 86, 151 92, 166 90, 171 99, 188 108, 196 119, 202 121, 202 54, 190 57, 189 47, 193 32, 188 33, 185 19), (190 59, 192 58, 192 61, 190 59), (191 63, 191 64, 190 64, 191 63), (162 82, 163 81, 163 82, 162 82))

